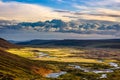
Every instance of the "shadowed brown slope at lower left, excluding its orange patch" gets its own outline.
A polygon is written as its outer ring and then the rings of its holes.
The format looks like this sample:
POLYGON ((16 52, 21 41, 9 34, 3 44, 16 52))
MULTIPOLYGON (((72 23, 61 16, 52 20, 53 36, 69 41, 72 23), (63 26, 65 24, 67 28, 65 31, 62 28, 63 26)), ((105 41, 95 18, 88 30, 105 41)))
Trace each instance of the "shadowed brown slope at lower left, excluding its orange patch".
POLYGON ((40 67, 32 60, 0 50, 0 80, 42 78, 33 71, 33 66, 40 67))

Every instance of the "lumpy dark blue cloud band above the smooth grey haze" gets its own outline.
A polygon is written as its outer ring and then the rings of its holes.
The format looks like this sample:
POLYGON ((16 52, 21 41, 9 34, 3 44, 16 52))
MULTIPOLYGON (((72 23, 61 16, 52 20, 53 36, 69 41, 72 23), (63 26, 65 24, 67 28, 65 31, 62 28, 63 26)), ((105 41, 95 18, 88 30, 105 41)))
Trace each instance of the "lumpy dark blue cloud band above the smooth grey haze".
POLYGON ((0 29, 34 30, 38 32, 72 32, 79 34, 120 34, 120 23, 110 21, 77 20, 64 22, 53 19, 45 22, 0 20, 0 29))

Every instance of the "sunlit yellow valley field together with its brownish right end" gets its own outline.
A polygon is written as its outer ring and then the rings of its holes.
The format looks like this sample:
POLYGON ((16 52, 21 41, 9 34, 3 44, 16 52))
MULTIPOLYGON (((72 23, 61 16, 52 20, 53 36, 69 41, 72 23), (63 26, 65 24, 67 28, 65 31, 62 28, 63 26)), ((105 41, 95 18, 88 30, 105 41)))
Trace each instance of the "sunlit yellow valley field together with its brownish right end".
POLYGON ((98 60, 116 61, 114 55, 119 55, 119 50, 110 50, 109 54, 105 49, 78 49, 78 48, 32 48, 24 47, 20 49, 8 49, 7 52, 33 59, 45 61, 59 61, 59 62, 87 62, 97 63, 98 60), (96 54, 97 53, 97 54, 96 54), (106 53, 106 54, 105 54, 106 53), (117 54, 116 54, 117 53, 117 54), (91 57, 92 55, 92 57, 91 57), (97 58, 99 57, 99 58, 97 58), (106 58, 107 57, 107 58, 106 58))

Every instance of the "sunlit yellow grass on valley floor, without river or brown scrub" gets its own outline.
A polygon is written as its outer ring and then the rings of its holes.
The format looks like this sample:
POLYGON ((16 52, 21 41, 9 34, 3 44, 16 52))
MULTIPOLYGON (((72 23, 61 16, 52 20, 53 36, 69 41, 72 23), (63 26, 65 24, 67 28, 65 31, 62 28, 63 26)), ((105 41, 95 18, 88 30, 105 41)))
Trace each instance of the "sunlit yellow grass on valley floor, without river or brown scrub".
MULTIPOLYGON (((21 49, 9 49, 7 52, 30 58, 32 60, 43 61, 58 61, 58 62, 84 62, 84 63, 100 63, 97 59, 86 59, 83 57, 74 57, 79 53, 84 53, 85 50, 78 50, 75 48, 32 48, 25 47, 21 49), (50 57, 36 57, 34 50, 48 54, 50 57), (73 54, 77 53, 77 54, 73 54), (73 57, 70 57, 73 56, 73 57)), ((85 55, 85 54, 83 54, 85 55)), ((105 60, 104 63, 115 62, 115 60, 105 60)), ((103 63, 103 62, 102 62, 103 63)))

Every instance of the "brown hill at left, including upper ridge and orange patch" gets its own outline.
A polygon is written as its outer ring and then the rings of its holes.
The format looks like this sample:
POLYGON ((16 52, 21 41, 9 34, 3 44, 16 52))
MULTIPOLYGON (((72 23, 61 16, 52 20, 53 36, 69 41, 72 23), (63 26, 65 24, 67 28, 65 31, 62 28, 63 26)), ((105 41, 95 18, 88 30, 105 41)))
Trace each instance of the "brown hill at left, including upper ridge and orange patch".
POLYGON ((6 51, 15 47, 0 38, 0 80, 44 80, 42 76, 51 70, 40 61, 32 61, 6 51))

